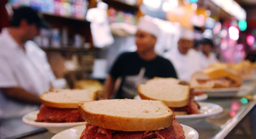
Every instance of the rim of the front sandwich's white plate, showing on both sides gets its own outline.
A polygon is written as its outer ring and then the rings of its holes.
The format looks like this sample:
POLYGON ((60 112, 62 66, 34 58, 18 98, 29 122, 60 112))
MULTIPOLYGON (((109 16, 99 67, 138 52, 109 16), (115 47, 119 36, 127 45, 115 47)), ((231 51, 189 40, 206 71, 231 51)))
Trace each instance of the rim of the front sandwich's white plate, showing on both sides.
MULTIPOLYGON (((198 134, 198 132, 194 128, 192 128, 190 126, 187 126, 187 125, 184 125, 184 124, 180 124, 180 125, 182 126, 183 130, 185 128, 185 129, 194 131, 194 136, 191 139, 198 139, 199 138, 199 134, 198 134)), ((60 138, 58 138, 58 136, 60 134, 64 134, 64 132, 72 131, 73 129, 74 129, 73 131, 76 131, 77 129, 80 129, 80 128, 85 128, 85 125, 79 125, 79 126, 76 126, 76 127, 72 127, 72 128, 66 129, 66 130, 64 130, 62 132, 59 132, 59 133, 55 134, 51 139, 60 139, 60 138)), ((74 139, 74 138, 72 138, 72 139, 74 139)))

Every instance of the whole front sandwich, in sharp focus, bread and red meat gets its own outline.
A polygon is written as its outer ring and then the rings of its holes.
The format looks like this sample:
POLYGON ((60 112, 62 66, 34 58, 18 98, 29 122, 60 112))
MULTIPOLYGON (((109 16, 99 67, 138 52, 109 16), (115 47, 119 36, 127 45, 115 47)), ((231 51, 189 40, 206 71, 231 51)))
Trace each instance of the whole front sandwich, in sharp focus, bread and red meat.
POLYGON ((162 101, 99 100, 79 103, 78 109, 87 122, 80 139, 185 139, 162 101))

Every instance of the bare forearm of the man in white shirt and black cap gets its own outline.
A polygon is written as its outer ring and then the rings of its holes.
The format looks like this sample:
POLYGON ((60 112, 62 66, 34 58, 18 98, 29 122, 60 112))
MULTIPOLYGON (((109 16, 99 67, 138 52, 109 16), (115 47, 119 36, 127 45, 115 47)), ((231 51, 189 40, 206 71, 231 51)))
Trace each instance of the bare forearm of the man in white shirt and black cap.
POLYGON ((18 100, 20 102, 38 103, 38 104, 41 103, 41 100, 38 96, 31 94, 19 87, 1 88, 1 90, 6 97, 18 100))

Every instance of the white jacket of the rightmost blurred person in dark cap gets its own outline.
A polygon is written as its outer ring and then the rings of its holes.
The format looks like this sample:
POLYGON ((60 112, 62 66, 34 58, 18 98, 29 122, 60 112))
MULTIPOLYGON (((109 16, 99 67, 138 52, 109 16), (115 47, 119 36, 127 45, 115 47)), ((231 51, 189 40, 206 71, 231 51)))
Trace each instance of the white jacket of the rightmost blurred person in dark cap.
POLYGON ((198 54, 203 69, 207 68, 210 64, 218 62, 218 59, 212 52, 209 53, 209 57, 206 57, 202 51, 198 52, 198 54))

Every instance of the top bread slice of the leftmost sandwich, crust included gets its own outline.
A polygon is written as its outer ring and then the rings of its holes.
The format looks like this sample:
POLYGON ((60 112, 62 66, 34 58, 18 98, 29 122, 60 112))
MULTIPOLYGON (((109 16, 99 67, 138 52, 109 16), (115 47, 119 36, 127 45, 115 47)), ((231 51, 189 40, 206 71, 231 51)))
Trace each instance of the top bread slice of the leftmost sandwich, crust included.
POLYGON ((44 92, 40 99, 44 105, 54 108, 77 108, 77 103, 97 99, 98 91, 86 89, 63 89, 44 92))

